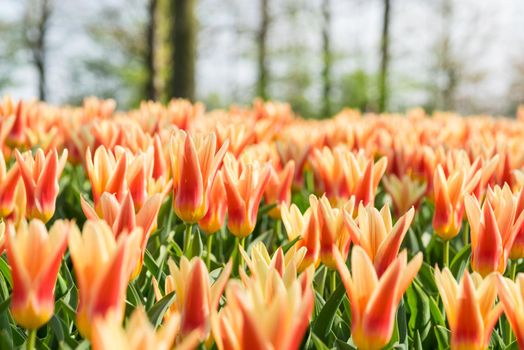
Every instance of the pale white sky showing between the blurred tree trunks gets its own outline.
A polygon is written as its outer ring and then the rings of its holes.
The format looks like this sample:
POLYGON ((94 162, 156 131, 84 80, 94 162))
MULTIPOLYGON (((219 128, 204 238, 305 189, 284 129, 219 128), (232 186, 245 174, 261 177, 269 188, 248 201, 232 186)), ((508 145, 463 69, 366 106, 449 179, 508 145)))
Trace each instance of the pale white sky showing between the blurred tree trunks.
MULTIPOLYGON (((85 30, 96 23, 104 6, 126 11, 130 18, 145 15, 145 0, 55 0, 50 25, 48 89, 52 103, 63 103, 75 89, 72 67, 97 50, 85 30)), ((279 77, 297 64, 311 71, 313 84, 304 91, 311 101, 320 98, 321 37, 320 0, 271 1, 270 74, 275 81, 276 98, 286 96, 279 77), (291 4, 291 5, 290 5, 291 4), (289 9, 293 7, 294 9, 289 9), (294 11, 293 11, 294 10, 294 11), (284 15, 295 13, 294 16, 284 15), (290 47, 298 58, 283 58, 290 47)), ((25 1, 0 0, 0 21, 13 21, 23 14, 25 1)), ((421 88, 431 79, 435 61, 435 42, 443 30, 439 1, 392 0, 391 105, 405 109, 423 104, 427 92, 421 88)), ((370 73, 379 64, 382 1, 332 0, 331 40, 336 60, 333 75, 347 74, 357 68, 370 73)), ((258 1, 199 0, 200 24, 197 95, 217 95, 225 102, 247 102, 256 82, 254 30, 259 21, 258 1)), ((505 113, 514 64, 524 63, 524 1, 461 0, 454 1, 450 19, 452 50, 463 62, 465 72, 482 77, 474 84, 460 86, 471 112, 505 113)), ((2 38, 0 37, 0 40, 2 38)), ((110 53, 101 53, 110 54, 110 53)), ((36 95, 36 73, 21 55, 12 69, 15 85, 0 90, 0 95, 32 98, 36 95)), ((98 82, 89 82, 96 86, 98 82)), ((462 106, 459 104, 459 110, 462 106)))

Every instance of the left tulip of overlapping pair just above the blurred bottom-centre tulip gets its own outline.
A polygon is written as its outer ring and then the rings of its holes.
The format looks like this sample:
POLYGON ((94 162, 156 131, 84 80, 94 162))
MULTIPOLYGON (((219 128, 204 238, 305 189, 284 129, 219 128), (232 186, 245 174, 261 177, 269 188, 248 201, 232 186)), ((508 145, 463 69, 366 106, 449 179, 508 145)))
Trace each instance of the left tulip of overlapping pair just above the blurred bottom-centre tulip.
POLYGON ((295 204, 291 204, 290 207, 283 205, 281 208, 282 222, 289 240, 293 241, 300 237, 297 243, 291 247, 291 250, 306 248, 304 259, 299 265, 299 271, 304 271, 310 265, 316 267, 320 263, 318 200, 313 195, 310 196, 310 204, 304 214, 300 213, 300 209, 295 204))

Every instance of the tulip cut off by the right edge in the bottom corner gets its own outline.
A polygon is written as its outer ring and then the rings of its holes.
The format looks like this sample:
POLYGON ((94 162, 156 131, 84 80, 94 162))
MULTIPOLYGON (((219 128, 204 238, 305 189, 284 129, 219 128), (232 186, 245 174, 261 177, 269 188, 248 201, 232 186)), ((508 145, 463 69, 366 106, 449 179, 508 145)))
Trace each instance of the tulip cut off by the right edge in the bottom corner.
POLYGON ((524 274, 519 273, 515 282, 497 276, 498 295, 506 318, 517 338, 519 349, 524 348, 524 274))

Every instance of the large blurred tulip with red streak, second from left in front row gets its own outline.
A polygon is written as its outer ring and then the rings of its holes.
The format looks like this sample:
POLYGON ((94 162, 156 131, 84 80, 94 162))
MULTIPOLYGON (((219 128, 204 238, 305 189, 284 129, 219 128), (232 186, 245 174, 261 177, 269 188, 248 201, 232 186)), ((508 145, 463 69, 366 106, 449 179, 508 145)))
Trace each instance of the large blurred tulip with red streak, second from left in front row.
POLYGON ((136 228, 115 239, 102 220, 87 221, 83 234, 78 229, 71 231, 69 251, 79 290, 76 320, 84 337, 91 339, 98 317, 113 313, 122 321, 127 284, 140 254, 141 231, 136 228))

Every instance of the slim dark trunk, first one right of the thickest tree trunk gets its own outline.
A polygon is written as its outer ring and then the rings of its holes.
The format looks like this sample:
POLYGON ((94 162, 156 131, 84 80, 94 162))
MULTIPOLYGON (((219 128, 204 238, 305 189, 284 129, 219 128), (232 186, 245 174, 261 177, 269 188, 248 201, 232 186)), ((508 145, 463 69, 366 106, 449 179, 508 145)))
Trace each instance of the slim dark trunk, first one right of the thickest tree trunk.
POLYGON ((257 95, 262 99, 267 99, 267 33, 269 29, 269 0, 260 0, 260 27, 257 33, 258 44, 258 81, 257 95))

